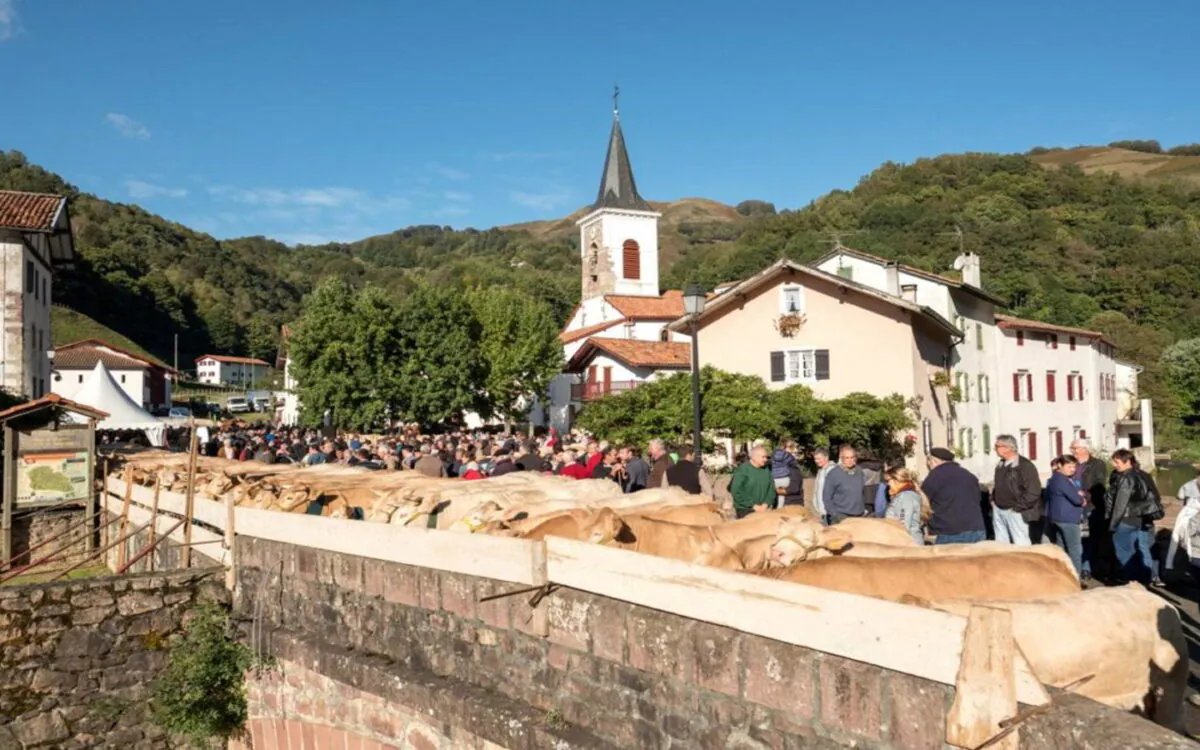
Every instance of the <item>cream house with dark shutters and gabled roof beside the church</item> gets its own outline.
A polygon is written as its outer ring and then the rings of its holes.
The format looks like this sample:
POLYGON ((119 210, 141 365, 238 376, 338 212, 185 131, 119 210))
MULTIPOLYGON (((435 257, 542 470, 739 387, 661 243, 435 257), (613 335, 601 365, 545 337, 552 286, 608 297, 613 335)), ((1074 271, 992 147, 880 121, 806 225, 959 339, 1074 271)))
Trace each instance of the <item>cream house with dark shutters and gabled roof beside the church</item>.
MULTIPOLYGON (((682 317, 670 328, 690 325, 682 317)), ((818 398, 904 396, 918 422, 913 466, 947 431, 946 389, 934 374, 960 331, 929 307, 780 260, 712 298, 698 330, 701 366, 757 376, 773 389, 804 385, 818 398)))

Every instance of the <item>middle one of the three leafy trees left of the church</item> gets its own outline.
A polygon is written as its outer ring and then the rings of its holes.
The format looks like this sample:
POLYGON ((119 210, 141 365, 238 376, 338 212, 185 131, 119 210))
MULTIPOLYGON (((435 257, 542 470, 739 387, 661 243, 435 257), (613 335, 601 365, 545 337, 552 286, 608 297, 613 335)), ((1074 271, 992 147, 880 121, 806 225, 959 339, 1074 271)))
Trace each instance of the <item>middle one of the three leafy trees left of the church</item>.
POLYGON ((487 368, 479 352, 479 320, 462 294, 422 284, 400 302, 395 324, 401 416, 436 425, 480 407, 487 368))

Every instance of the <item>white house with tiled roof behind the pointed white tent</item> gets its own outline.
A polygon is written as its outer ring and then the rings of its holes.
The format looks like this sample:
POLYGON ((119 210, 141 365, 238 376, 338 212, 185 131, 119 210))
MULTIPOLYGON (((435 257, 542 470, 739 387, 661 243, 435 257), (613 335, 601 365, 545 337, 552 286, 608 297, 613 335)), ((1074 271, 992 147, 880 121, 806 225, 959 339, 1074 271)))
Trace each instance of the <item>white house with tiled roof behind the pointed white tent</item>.
POLYGON ((74 398, 98 361, 104 362, 113 380, 142 408, 148 412, 170 408, 174 370, 158 360, 95 338, 54 349, 53 392, 74 398))

